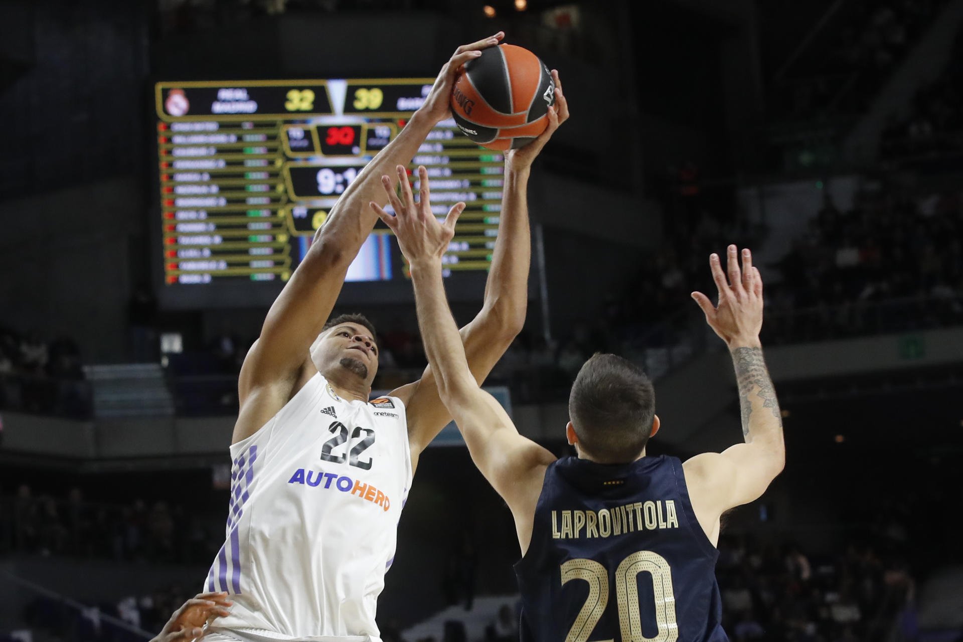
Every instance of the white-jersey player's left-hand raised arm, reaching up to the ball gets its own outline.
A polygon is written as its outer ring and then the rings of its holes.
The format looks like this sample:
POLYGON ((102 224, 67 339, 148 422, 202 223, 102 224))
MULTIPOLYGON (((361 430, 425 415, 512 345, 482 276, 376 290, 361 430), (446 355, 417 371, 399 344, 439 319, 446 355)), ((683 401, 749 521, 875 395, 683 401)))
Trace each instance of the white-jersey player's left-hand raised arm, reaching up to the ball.
POLYGON ((375 226, 377 216, 368 203, 386 202, 381 175, 391 167, 410 162, 431 128, 449 116, 458 69, 503 37, 499 32, 458 47, 442 66, 421 109, 358 174, 331 209, 304 260, 274 300, 260 337, 247 353, 238 381, 241 415, 234 431, 235 442, 257 430, 287 402, 307 351, 341 292, 351 261, 375 226), (256 395, 256 402, 246 407, 247 398, 252 395, 256 395))

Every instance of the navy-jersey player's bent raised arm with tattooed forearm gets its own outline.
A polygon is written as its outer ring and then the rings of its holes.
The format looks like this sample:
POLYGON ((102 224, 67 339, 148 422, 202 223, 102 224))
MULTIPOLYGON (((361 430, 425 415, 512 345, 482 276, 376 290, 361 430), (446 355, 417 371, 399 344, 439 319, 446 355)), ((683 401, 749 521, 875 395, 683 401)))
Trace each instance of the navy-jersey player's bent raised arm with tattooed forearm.
POLYGON ((752 265, 748 249, 742 250, 742 270, 736 245, 729 245, 727 252, 728 282, 719 257, 713 254, 709 259, 718 289, 718 305, 714 306, 702 293, 692 293, 692 298, 732 355, 745 443, 722 453, 697 455, 684 466, 692 507, 714 542, 722 513, 758 499, 786 463, 779 401, 759 341, 763 280, 759 269, 752 265))

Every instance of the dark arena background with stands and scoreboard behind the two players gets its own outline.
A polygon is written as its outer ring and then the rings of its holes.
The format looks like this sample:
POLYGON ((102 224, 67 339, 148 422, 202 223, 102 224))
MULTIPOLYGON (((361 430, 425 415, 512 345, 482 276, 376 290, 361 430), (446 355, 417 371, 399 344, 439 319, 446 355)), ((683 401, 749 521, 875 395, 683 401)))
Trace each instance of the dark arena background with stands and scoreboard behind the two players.
MULTIPOLYGON (((5 0, 0 640, 147 640, 202 589, 268 306, 455 47, 498 30, 560 70, 572 117, 532 171, 527 319, 485 386, 568 454, 574 374, 611 351, 655 382, 649 454, 740 442, 690 292, 715 292, 711 252, 751 247, 787 457, 723 518, 726 630, 963 639, 963 0, 5 0)), ((445 121, 415 159, 441 214, 468 203, 445 257, 462 323, 503 162, 445 121)), ((416 379, 380 223, 349 280, 336 312, 377 324, 375 388, 416 379)), ((517 557, 446 430, 384 642, 517 640, 517 557)))

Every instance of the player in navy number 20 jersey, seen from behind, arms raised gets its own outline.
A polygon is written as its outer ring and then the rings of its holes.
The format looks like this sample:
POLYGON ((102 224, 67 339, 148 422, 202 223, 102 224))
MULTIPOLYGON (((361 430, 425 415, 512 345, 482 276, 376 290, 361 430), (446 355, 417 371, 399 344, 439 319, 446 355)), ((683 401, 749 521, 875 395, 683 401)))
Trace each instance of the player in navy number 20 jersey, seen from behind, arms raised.
MULTIPOLYGON (((411 266, 422 340, 442 400, 472 459, 515 520, 522 559, 522 638, 539 642, 726 640, 720 625, 716 543, 723 512, 759 498, 783 469, 779 405, 759 331, 763 284, 749 250, 728 248, 729 277, 713 254, 718 305, 692 296, 736 368, 745 443, 685 464, 645 454, 659 429, 652 384, 629 361, 596 354, 569 397, 576 457, 518 434, 469 371, 445 299, 441 256, 460 210, 439 223, 421 201, 393 195, 396 233, 411 266)), ((376 207, 377 209, 377 207, 376 207)))

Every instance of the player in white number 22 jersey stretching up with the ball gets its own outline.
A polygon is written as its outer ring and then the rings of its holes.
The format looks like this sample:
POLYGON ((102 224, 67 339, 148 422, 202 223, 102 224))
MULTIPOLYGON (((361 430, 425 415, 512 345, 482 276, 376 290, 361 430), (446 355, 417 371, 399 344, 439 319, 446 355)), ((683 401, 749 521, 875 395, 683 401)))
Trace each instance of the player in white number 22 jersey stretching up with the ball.
MULTIPOLYGON (((502 33, 458 47, 425 104, 332 208, 274 301, 239 380, 227 537, 205 590, 234 606, 205 640, 375 641, 377 596, 418 456, 449 421, 434 375, 369 401, 375 330, 360 315, 328 316, 346 272, 387 202, 389 168, 410 162, 451 117, 455 75, 502 33)), ((566 112, 567 114, 567 112, 566 112)), ((461 329, 481 381, 525 319, 531 254, 526 186, 534 157, 559 127, 506 153, 498 239, 481 312, 461 329)), ((407 185, 401 171, 397 179, 407 185)), ((423 179, 424 180, 424 179, 423 179)), ((427 189, 427 182, 425 182, 427 189)), ((410 189, 410 188, 409 188, 410 189)), ((463 205, 462 205, 463 206, 463 205)))

